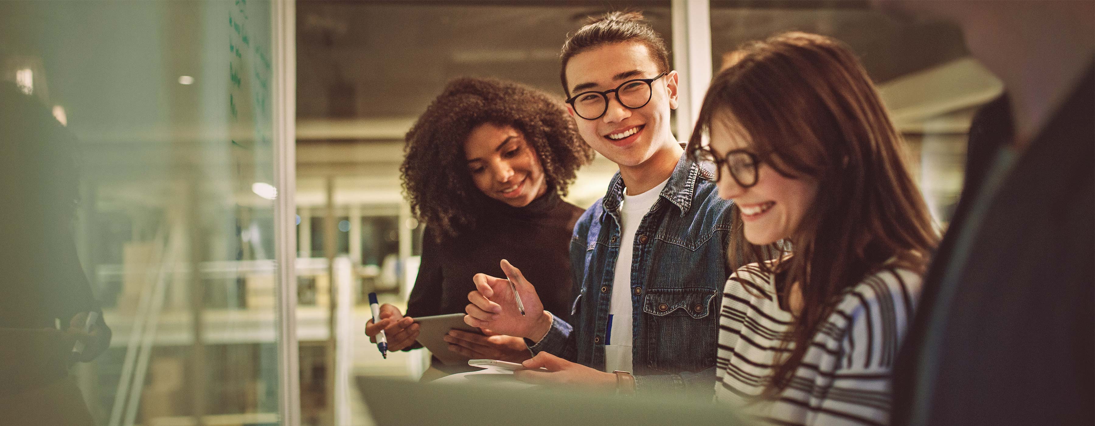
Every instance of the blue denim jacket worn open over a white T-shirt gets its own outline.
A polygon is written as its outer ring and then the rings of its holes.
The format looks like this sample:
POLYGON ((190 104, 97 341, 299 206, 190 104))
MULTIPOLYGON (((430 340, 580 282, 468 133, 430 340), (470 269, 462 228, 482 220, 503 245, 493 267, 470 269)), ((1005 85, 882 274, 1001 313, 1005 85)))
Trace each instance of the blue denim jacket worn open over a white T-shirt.
MULTIPOLYGON (((639 222, 632 256, 632 356, 636 389, 698 391, 715 385, 723 287, 733 210, 712 171, 682 156, 639 222)), ((533 353, 604 369, 604 333, 620 252, 624 184, 618 172, 603 198, 578 219, 570 239, 575 298, 568 324, 552 321, 533 353)))

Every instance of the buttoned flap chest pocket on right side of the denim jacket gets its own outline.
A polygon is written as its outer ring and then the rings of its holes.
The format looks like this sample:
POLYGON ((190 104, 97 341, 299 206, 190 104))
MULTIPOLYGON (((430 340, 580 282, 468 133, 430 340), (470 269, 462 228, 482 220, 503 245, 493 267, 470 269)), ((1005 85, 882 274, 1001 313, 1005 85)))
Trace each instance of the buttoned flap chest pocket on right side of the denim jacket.
POLYGON ((643 299, 648 367, 696 372, 715 365, 718 315, 710 288, 652 288, 643 299))

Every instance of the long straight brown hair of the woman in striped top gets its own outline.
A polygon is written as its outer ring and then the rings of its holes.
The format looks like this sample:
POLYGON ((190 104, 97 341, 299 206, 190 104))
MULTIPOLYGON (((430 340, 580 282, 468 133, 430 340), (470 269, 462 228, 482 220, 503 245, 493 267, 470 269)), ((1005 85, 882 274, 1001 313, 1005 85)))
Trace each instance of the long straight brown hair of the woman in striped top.
POLYGON ((818 182, 789 238, 789 256, 786 244, 742 242, 730 250, 775 274, 782 300, 791 300, 794 283, 802 291, 803 308, 783 337, 782 346, 793 347, 765 385, 764 395, 773 396, 791 383, 844 291, 890 266, 923 273, 938 235, 904 165, 901 137, 844 44, 792 32, 748 43, 741 53, 712 81, 689 152, 719 120, 780 174, 818 182), (763 262, 772 253, 782 261, 763 262))

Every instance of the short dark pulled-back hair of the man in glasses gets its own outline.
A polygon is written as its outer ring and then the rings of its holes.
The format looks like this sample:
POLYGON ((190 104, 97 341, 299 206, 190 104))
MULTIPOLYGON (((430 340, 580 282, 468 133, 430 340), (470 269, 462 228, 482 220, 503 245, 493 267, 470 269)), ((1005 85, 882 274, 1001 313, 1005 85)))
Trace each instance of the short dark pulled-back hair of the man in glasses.
POLYGON ((563 92, 570 95, 566 82, 566 64, 570 58, 595 47, 615 43, 638 43, 650 51, 650 59, 658 66, 658 72, 668 72, 669 49, 666 41, 643 19, 643 12, 609 12, 600 16, 589 16, 589 23, 570 34, 563 43, 562 69, 560 79, 563 81, 563 92))

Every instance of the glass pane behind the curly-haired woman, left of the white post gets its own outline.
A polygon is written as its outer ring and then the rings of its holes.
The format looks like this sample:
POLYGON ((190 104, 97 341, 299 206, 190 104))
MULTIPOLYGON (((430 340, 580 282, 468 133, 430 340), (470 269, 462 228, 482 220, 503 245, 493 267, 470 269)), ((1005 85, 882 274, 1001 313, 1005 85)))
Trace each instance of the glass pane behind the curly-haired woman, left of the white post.
MULTIPOLYGON (((614 1, 612 7, 643 10, 671 45, 668 1, 614 1)), ((312 345, 307 365, 302 361, 302 389, 341 392, 337 383, 330 385, 330 376, 320 373, 321 369, 402 377, 422 373, 428 361, 422 350, 389 354, 384 360, 361 333, 371 318, 365 304, 368 292, 377 291, 381 302, 404 309, 417 275, 424 227, 403 199, 399 171, 403 136, 457 77, 514 80, 562 102, 558 53, 566 34, 580 27, 586 16, 603 12, 604 4, 557 1, 298 2, 296 199, 301 223, 307 223, 307 229, 298 226, 298 234, 310 241, 300 256, 325 257, 324 242, 336 239, 333 287, 319 291, 338 292, 347 286, 349 290, 343 293, 350 293, 355 303, 350 310, 334 308, 348 318, 336 318, 331 329, 351 324, 353 330, 336 335, 337 346, 304 343, 301 333, 302 345, 312 345), (325 234, 328 207, 335 224, 348 220, 347 231, 331 227, 333 231, 325 234), (343 235, 349 237, 348 244, 343 243, 343 235), (349 273, 339 274, 344 256, 349 273), (339 276, 349 281, 341 281, 339 276), (353 347, 349 359, 324 353, 345 346, 353 347)), ((604 194, 615 171, 615 164, 599 158, 579 172, 569 200, 588 207, 604 194)), ((325 277, 325 265, 316 274, 325 277)), ((302 303, 306 279, 301 273, 302 303)), ((327 308, 323 302, 319 307, 327 308)), ((301 307, 302 321, 306 308, 311 307, 301 307)), ((314 334, 331 335, 331 331, 314 334)), ((302 348, 302 357, 304 353, 302 348)), ((325 416, 347 418, 345 410, 350 411, 351 422, 364 415, 360 408, 325 404, 341 401, 337 398, 311 395, 307 400, 301 408, 306 423, 323 424, 325 416)))

